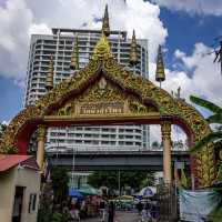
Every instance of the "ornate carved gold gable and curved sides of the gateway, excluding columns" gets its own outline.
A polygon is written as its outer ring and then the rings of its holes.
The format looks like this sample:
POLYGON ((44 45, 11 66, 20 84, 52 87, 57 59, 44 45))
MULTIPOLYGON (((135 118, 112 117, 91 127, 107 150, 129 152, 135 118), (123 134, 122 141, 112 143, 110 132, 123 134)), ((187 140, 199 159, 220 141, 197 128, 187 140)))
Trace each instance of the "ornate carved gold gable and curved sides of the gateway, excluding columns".
MULTIPOLYGON (((167 91, 151 81, 135 75, 118 64, 110 52, 107 38, 102 34, 94 48, 89 64, 74 77, 61 82, 37 101, 34 105, 23 109, 9 124, 0 142, 0 152, 7 153, 18 147, 22 129, 29 128, 27 134, 38 124, 65 119, 95 120, 109 117, 128 115, 170 117, 176 123, 183 123, 192 132, 193 142, 210 132, 204 118, 190 104, 173 99, 167 91)), ((24 130, 23 130, 24 131, 24 130)), ((27 135, 28 137, 28 135, 27 135)), ((18 148, 19 149, 19 148, 18 148)), ((200 185, 210 185, 214 179, 213 150, 206 148, 196 157, 196 174, 200 185)))

